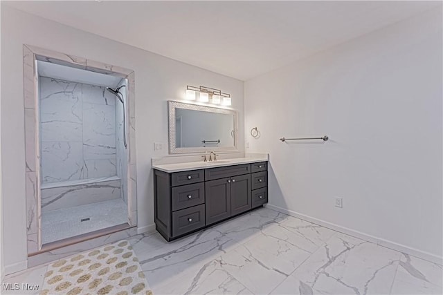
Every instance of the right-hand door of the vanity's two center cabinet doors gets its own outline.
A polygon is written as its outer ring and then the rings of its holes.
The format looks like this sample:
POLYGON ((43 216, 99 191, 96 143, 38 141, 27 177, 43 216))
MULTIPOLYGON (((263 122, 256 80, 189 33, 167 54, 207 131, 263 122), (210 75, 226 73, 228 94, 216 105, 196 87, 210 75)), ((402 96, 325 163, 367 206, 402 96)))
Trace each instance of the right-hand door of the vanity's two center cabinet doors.
POLYGON ((230 213, 237 215, 251 209, 251 175, 230 178, 230 213))

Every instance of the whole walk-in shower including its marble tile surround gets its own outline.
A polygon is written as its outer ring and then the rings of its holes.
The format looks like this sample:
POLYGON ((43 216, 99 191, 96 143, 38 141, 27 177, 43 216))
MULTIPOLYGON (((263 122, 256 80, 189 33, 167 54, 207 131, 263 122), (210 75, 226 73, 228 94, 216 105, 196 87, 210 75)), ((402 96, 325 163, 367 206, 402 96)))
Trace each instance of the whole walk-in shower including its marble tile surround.
POLYGON ((24 46, 28 256, 136 226, 134 71, 24 46))

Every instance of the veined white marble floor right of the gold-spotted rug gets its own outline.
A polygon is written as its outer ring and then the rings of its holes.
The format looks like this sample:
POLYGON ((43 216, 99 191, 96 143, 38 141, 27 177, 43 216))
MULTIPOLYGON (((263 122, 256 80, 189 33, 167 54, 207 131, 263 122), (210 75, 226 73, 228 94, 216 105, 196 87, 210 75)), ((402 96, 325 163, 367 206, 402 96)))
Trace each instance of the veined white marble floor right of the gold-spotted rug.
POLYGON ((266 208, 129 241, 154 294, 442 294, 441 265, 266 208))

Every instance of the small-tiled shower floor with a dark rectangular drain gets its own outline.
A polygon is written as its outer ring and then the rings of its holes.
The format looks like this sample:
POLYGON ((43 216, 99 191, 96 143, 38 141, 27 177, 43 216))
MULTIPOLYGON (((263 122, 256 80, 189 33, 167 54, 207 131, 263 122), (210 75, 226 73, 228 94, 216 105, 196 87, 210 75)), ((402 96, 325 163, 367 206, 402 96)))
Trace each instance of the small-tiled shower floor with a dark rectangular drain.
POLYGON ((46 244, 122 225, 127 220, 127 204, 121 199, 43 212, 42 242, 46 244), (80 221, 85 218, 89 220, 80 221))

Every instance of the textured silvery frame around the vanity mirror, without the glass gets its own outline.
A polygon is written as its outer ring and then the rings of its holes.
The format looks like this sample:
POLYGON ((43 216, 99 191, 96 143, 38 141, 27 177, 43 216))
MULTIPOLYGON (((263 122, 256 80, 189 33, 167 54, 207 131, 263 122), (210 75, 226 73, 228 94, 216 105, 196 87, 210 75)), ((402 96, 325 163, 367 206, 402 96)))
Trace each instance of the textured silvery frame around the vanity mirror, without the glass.
POLYGON ((168 100, 169 113, 169 153, 203 153, 208 151, 233 152, 238 151, 238 122, 237 111, 228 108, 215 108, 213 106, 202 106, 200 104, 186 104, 184 102, 174 102, 168 100), (175 110, 184 108, 192 111, 204 111, 209 113, 219 113, 234 116, 234 145, 233 146, 199 146, 178 148, 175 146, 175 110))

